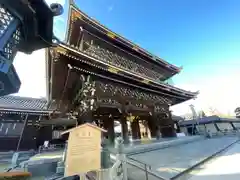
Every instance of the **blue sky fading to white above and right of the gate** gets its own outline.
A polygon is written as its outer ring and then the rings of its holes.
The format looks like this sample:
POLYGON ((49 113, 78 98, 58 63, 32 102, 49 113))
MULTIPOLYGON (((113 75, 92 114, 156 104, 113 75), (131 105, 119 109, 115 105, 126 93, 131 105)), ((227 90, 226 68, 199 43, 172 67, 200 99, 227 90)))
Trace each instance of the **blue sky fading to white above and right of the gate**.
MULTIPOLYGON (((63 39, 68 1, 58 2, 64 5, 65 13, 55 19, 54 31, 63 39)), ((232 113, 240 105, 240 85, 235 83, 240 79, 239 0, 75 2, 116 33, 170 63, 183 66, 174 83, 187 90, 200 90, 201 95, 185 103, 185 108, 183 104, 177 106, 175 111, 183 113, 193 103, 197 109, 216 106, 219 111, 232 113), (221 96, 226 98, 227 105, 221 103, 221 96)))

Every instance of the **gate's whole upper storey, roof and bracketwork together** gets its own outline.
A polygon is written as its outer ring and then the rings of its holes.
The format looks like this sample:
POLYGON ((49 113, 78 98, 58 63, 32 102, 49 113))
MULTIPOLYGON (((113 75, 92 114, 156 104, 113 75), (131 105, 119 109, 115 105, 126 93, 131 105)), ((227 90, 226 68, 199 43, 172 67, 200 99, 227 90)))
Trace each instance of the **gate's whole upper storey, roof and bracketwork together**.
POLYGON ((180 72, 180 68, 150 54, 91 19, 72 1, 66 38, 67 43, 79 51, 152 81, 165 81, 180 72))

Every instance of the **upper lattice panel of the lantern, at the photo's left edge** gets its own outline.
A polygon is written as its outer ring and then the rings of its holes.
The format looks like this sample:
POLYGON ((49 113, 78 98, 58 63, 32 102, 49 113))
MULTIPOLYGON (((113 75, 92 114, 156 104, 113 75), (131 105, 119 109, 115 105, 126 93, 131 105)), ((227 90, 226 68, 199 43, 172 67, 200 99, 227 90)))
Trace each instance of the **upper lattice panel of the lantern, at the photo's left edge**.
POLYGON ((0 37, 5 33, 13 19, 13 16, 0 5, 0 37))

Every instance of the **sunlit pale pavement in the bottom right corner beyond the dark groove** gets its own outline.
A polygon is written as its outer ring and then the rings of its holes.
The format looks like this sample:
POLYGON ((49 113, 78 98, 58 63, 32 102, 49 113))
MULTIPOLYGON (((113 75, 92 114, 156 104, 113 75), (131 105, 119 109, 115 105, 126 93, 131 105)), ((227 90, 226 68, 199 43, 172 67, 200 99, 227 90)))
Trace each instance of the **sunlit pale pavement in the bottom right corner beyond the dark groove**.
POLYGON ((240 144, 236 143, 215 160, 207 163, 203 169, 193 173, 189 180, 239 180, 240 144))

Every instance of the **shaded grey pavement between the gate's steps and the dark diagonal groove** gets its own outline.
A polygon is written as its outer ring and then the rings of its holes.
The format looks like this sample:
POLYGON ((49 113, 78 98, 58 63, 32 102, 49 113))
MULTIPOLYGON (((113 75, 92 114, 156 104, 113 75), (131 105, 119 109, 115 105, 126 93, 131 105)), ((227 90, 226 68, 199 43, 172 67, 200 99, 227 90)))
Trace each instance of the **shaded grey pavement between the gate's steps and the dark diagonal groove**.
MULTIPOLYGON (((227 147, 237 140, 236 137, 220 137, 199 140, 196 142, 159 149, 146 153, 136 154, 130 158, 137 160, 142 166, 147 164, 151 171, 164 178, 172 178, 187 170, 217 151, 227 147)), ((136 179, 144 179, 137 168, 132 168, 131 173, 136 174, 136 179)), ((150 178, 149 178, 150 179, 150 178)))

